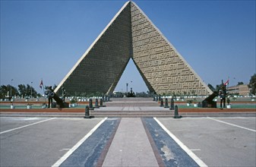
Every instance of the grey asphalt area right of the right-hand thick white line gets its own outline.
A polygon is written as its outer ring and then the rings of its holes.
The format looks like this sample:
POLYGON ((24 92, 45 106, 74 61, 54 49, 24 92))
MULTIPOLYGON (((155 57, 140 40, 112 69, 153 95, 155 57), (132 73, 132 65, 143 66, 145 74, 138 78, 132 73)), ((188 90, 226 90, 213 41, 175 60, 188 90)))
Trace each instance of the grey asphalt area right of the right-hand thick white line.
POLYGON ((253 118, 158 118, 209 166, 255 166, 253 118))

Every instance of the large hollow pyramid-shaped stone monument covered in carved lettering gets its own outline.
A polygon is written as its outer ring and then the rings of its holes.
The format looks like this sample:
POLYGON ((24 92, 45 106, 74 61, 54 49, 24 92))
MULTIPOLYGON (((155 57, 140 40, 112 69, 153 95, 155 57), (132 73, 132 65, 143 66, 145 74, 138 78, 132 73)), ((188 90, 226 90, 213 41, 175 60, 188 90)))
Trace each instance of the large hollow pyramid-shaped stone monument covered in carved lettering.
POLYGON ((158 94, 212 91, 134 2, 126 2, 64 77, 61 88, 74 93, 112 93, 129 59, 150 92, 158 94))

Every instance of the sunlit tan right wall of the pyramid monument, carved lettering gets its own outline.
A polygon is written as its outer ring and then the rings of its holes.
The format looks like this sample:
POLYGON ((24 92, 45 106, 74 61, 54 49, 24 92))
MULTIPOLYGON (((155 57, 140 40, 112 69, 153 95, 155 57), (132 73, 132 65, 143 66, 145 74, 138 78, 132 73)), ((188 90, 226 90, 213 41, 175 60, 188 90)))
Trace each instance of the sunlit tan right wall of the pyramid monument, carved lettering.
POLYGON ((134 3, 131 3, 131 32, 134 62, 144 80, 150 83, 156 93, 212 93, 182 55, 134 3))

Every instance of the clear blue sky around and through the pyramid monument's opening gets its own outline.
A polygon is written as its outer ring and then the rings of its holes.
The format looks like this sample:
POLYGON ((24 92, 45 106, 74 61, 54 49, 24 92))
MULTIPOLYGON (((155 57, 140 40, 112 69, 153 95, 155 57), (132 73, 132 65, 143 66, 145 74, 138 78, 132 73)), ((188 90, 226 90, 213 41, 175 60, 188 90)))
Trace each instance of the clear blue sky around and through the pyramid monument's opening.
MULTIPOLYGON (((134 1, 213 87, 255 70, 255 1, 134 1)), ((0 84, 58 84, 125 1, 1 1, 0 84), (13 79, 11 81, 11 79, 13 79)), ((115 90, 147 91, 128 64, 115 90), (132 83, 131 83, 132 81, 132 83)))

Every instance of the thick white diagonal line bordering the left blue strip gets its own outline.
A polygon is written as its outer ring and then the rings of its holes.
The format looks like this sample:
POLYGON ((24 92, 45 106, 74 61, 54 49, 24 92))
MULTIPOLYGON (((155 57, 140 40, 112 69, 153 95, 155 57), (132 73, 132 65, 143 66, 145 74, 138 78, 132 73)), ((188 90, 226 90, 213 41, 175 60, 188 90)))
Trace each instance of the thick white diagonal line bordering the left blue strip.
POLYGON ((68 156, 70 156, 75 150, 77 150, 77 148, 80 147, 81 144, 84 143, 84 141, 87 140, 87 138, 90 137, 90 135, 93 134, 93 132, 96 131, 97 128, 100 127, 100 124, 103 124, 103 122, 106 121, 106 119, 107 117, 101 120, 98 124, 96 124, 96 126, 92 130, 90 130, 88 134, 86 134, 80 141, 78 141, 74 145, 74 147, 71 148, 71 150, 69 150, 67 153, 65 153, 64 156, 62 156, 62 158, 58 159, 58 161, 55 162, 55 164, 53 164, 52 167, 57 167, 59 165, 62 165, 62 162, 68 159, 68 156))

